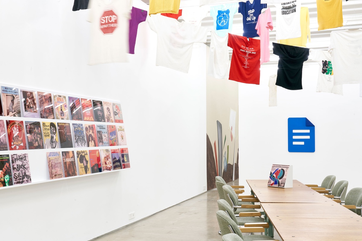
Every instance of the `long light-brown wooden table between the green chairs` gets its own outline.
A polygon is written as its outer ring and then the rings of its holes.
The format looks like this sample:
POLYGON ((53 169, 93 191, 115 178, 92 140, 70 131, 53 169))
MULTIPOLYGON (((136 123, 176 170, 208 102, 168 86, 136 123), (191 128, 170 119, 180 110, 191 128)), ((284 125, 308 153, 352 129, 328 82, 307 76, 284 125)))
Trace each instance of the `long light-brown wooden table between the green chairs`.
POLYGON ((282 241, 362 241, 361 216, 299 181, 293 180, 293 188, 267 187, 267 180, 247 182, 282 241))

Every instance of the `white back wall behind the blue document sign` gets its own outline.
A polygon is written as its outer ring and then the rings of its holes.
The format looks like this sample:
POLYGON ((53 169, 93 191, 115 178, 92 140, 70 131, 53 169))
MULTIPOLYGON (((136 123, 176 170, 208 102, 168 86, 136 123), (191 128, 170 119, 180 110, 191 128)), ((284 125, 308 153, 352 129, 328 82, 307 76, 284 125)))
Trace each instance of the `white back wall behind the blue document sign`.
POLYGON ((276 107, 268 106, 268 82, 277 66, 261 67, 260 86, 239 84, 240 184, 268 179, 272 164, 285 164, 293 165, 293 178, 305 184, 320 185, 325 176, 335 175, 336 182, 349 181, 348 190, 362 187, 359 84, 344 85, 343 96, 317 93, 318 71, 316 63, 304 63, 303 89, 278 86, 276 107), (315 125, 314 153, 288 152, 289 117, 306 117, 315 125))

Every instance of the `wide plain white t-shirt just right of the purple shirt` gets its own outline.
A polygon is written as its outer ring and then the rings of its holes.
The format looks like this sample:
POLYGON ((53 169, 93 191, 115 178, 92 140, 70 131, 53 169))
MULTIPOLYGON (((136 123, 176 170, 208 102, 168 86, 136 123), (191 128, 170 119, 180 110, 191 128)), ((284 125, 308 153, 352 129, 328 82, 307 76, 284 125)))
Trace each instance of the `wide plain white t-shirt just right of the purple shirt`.
POLYGON ((147 17, 157 33, 156 66, 189 72, 193 43, 205 43, 207 29, 162 15, 147 17))

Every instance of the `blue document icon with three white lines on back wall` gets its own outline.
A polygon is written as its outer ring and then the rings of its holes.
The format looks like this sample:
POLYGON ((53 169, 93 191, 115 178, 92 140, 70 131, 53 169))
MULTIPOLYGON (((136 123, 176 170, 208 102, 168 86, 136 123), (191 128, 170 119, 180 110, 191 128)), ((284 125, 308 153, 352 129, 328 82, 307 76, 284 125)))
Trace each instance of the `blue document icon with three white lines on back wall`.
POLYGON ((315 152, 314 125, 307 118, 288 118, 288 151, 315 152))

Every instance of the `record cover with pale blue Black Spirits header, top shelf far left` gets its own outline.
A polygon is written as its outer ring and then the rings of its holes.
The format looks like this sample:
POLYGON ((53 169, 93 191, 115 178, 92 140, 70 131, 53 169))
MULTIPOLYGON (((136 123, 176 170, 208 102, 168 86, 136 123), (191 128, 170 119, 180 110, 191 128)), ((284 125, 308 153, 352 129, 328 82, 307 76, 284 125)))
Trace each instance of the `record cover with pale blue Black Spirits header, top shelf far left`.
POLYGON ((19 89, 1 86, 4 116, 21 117, 19 89))

